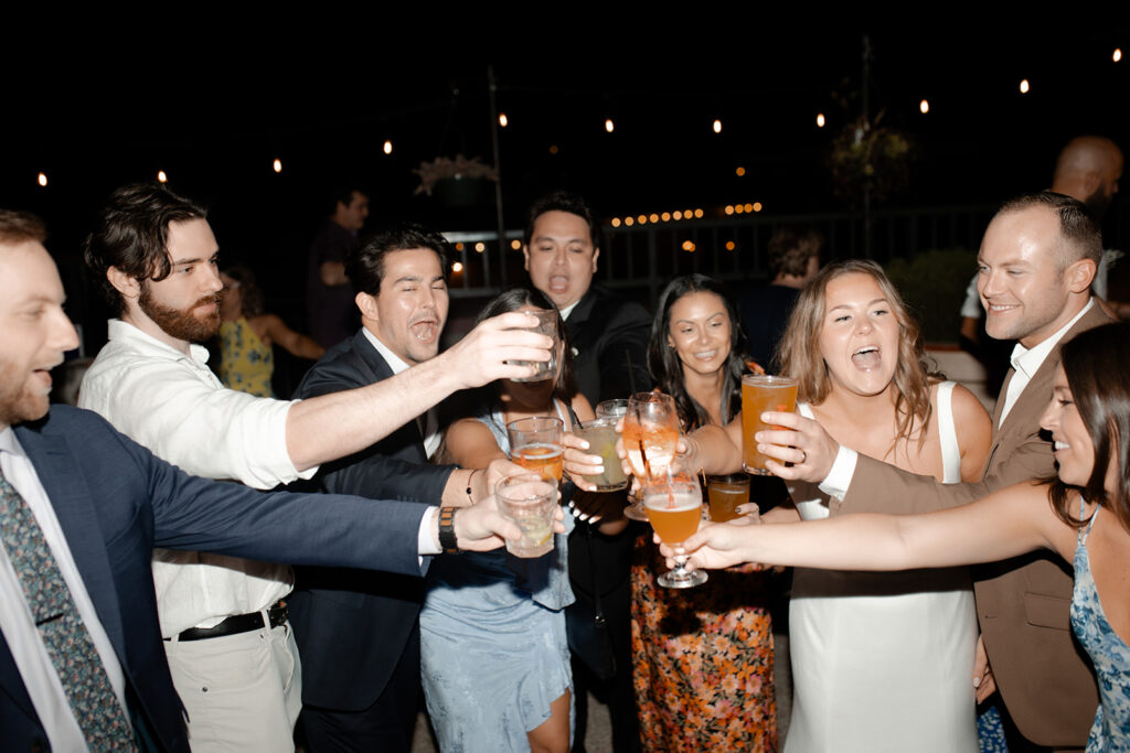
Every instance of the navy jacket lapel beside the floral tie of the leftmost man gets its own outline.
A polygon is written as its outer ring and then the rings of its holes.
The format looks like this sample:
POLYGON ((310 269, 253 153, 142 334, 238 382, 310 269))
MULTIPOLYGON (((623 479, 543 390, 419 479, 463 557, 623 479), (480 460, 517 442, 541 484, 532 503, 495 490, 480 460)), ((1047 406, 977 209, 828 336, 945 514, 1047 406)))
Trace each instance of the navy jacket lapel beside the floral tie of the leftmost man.
POLYGON ((16 428, 16 435, 51 500, 102 627, 122 666, 127 666, 121 604, 95 510, 96 496, 87 483, 86 474, 75 462, 76 453, 84 450, 70 448, 67 438, 61 436, 44 436, 41 431, 20 427, 16 428))

